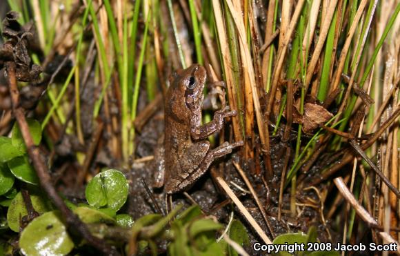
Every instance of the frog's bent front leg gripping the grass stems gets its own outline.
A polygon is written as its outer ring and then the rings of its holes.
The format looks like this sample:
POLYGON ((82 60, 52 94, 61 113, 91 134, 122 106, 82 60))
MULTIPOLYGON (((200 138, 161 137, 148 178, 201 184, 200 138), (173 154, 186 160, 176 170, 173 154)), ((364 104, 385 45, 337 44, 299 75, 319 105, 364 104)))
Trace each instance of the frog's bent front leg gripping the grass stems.
POLYGON ((194 115, 191 119, 190 135, 193 139, 206 139, 212 133, 217 132, 223 128, 223 120, 226 117, 233 117, 237 115, 236 110, 230 111, 230 107, 226 106, 221 110, 214 113, 214 119, 207 124, 201 125, 201 110, 199 115, 194 115))

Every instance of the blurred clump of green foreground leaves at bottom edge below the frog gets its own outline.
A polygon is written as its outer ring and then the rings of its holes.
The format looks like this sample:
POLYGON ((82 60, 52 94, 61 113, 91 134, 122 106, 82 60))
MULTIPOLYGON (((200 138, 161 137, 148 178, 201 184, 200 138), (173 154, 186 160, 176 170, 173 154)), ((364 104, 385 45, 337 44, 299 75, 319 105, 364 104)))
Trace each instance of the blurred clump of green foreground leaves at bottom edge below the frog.
MULTIPOLYGON (((135 221, 131 229, 128 255, 157 251, 155 241, 167 239, 169 255, 237 255, 224 241, 217 241, 223 225, 212 218, 203 217, 199 206, 190 206, 179 213, 181 205, 167 216, 146 215, 135 221), (175 217, 175 219, 173 219, 175 217), (168 223, 170 225, 168 226, 168 223)), ((240 246, 249 244, 248 233, 240 221, 234 220, 228 228, 230 238, 240 246)))

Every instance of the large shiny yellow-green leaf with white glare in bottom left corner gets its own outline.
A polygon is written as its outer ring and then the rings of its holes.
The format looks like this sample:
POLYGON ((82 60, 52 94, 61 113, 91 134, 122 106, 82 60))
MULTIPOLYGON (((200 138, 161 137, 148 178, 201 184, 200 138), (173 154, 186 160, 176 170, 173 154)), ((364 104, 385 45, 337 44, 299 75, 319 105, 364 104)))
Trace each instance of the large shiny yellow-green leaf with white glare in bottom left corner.
POLYGON ((22 231, 19 247, 24 255, 67 255, 74 243, 61 221, 59 211, 53 210, 32 220, 22 231))

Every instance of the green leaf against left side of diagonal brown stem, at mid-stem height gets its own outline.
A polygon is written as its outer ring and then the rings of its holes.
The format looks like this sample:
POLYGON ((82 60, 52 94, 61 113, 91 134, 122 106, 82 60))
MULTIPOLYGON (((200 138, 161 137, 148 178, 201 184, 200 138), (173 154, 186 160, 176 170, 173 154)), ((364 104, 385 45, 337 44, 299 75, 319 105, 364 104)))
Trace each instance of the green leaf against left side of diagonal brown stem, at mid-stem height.
POLYGON ((39 178, 30 165, 28 157, 15 157, 11 161, 8 161, 8 168, 10 168, 11 173, 17 179, 21 179, 21 181, 25 181, 26 183, 33 185, 39 184, 39 178))

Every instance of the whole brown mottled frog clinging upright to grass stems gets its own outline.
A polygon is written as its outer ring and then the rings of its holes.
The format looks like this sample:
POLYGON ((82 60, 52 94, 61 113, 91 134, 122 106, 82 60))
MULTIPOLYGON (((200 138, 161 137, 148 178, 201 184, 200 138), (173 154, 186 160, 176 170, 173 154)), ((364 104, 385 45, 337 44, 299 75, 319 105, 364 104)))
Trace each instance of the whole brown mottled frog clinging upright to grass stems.
POLYGON ((155 185, 164 185, 166 193, 177 193, 192 186, 214 159, 243 145, 243 141, 225 142, 210 150, 207 137, 221 130, 224 119, 236 115, 236 111, 229 111, 229 107, 217 110, 212 121, 201 125, 205 83, 206 69, 198 64, 177 70, 170 78, 165 101, 164 147, 155 155, 159 169, 155 185))

